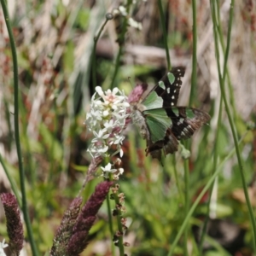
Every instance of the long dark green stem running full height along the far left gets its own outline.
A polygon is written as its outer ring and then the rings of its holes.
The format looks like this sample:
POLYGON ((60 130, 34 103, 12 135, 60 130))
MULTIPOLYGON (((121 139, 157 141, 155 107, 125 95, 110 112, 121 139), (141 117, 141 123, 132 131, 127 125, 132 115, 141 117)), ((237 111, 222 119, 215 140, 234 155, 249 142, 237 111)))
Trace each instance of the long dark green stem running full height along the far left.
POLYGON ((12 28, 10 26, 9 22, 9 14, 8 9, 6 6, 6 3, 4 0, 1 0, 2 8, 3 8, 3 15, 5 17, 5 22, 7 26, 7 30, 9 33, 9 41, 12 51, 12 57, 13 57, 13 65, 14 65, 14 90, 15 90, 15 143, 17 148, 17 154, 18 154, 18 160, 19 160, 19 172, 20 172, 20 190, 22 195, 22 212, 24 214, 24 220, 26 223, 26 230, 28 239, 31 244, 32 248, 32 255, 36 256, 38 255, 38 248, 36 246, 36 243, 34 241, 33 235, 32 235, 32 226, 29 219, 29 214, 27 211, 27 205, 26 205, 26 189, 25 189, 25 172, 22 165, 22 156, 21 156, 21 148, 20 148, 20 132, 19 132, 19 78, 18 78, 18 61, 17 61, 17 54, 15 49, 15 38, 12 32, 12 28))

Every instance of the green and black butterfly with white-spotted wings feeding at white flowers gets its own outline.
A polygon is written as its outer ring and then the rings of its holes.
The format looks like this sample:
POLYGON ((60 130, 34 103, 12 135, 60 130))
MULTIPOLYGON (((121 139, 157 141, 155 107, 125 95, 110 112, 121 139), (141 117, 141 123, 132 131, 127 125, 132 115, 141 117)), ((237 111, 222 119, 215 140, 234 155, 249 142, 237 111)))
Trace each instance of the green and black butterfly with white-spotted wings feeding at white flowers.
POLYGON ((183 67, 172 68, 152 90, 147 92, 148 84, 139 84, 129 97, 132 120, 147 141, 146 154, 160 162, 162 152, 177 151, 177 140, 192 137, 210 119, 199 109, 177 106, 184 73, 183 67))

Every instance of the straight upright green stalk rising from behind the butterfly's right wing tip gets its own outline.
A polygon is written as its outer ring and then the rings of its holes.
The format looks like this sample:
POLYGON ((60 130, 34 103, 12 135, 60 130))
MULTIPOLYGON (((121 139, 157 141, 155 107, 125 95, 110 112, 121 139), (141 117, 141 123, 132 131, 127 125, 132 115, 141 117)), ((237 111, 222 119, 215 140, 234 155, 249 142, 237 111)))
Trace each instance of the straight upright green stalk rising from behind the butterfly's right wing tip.
POLYGON ((192 53, 192 75, 191 75, 191 90, 189 96, 189 106, 191 106, 195 97, 196 86, 196 52, 197 52, 197 24, 196 24, 196 0, 192 1, 192 14, 193 14, 193 53, 192 53))

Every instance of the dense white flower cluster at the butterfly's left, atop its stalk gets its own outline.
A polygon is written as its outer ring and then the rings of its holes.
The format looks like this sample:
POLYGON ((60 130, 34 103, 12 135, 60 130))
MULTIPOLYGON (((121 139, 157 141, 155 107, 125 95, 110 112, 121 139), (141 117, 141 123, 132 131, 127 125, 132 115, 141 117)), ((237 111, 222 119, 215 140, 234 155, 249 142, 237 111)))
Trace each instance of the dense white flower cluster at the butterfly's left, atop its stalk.
MULTIPOLYGON (((94 135, 88 148, 92 157, 109 157, 108 148, 112 145, 116 147, 113 154, 119 153, 122 157, 121 144, 125 136, 121 132, 125 128, 125 119, 130 116, 127 112, 129 108, 130 104, 123 91, 114 88, 103 92, 100 86, 96 86, 96 93, 91 98, 90 113, 87 113, 85 120, 87 129, 94 135)), ((117 171, 109 165, 102 168, 103 172, 117 171)))

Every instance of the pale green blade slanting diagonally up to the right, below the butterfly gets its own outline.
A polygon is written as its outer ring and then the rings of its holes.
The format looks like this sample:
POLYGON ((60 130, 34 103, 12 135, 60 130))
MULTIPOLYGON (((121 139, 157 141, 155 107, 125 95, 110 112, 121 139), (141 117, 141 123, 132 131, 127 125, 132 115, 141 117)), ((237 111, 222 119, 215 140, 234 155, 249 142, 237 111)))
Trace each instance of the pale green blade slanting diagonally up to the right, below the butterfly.
MULTIPOLYGON (((238 144, 240 144, 243 140, 244 137, 246 137, 247 132, 241 137, 241 140, 239 141, 238 144)), ((190 207, 190 210, 185 218, 185 220, 183 221, 182 226, 180 227, 180 229, 178 230, 177 236, 175 237, 175 240, 173 242, 170 241, 170 245, 171 245, 171 249, 169 250, 169 253, 167 256, 171 256, 174 252, 174 249, 177 245, 177 242, 179 241, 180 237, 183 234, 183 230, 185 229, 185 227, 187 226, 187 224, 189 223, 189 219, 191 218, 193 212, 195 211, 195 208, 198 206, 199 202, 201 201, 201 198, 206 194, 207 190, 210 188, 211 184, 214 182, 215 178, 218 176, 218 174, 220 172, 223 171, 223 166, 224 163, 230 159, 230 157, 233 156, 233 154, 236 153, 236 148, 233 148, 232 150, 230 150, 230 154, 228 154, 224 160, 219 164, 216 172, 212 175, 212 177, 209 179, 209 181, 207 182, 206 186, 201 190, 200 195, 198 195, 198 197, 196 198, 194 204, 192 205, 192 207, 190 207)))

